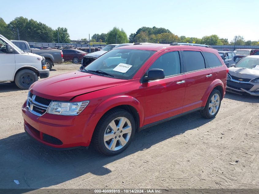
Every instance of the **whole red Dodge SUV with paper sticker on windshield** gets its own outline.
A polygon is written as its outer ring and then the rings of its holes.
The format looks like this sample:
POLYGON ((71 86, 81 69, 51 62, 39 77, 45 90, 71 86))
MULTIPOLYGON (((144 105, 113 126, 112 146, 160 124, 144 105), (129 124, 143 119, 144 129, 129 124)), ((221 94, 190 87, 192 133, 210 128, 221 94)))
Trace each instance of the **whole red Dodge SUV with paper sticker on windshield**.
POLYGON ((52 149, 115 155, 135 132, 200 111, 213 118, 228 69, 204 46, 143 44, 101 55, 83 70, 35 82, 22 107, 25 131, 52 149))

